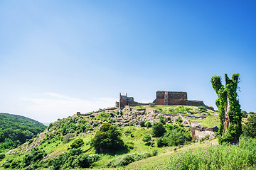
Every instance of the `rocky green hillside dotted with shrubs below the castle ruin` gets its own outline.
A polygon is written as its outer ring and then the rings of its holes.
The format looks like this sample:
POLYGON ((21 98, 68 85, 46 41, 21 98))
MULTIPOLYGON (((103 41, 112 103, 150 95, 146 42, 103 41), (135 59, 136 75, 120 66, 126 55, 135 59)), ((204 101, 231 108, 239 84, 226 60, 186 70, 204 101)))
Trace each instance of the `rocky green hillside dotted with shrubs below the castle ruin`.
MULTIPOLYGON (((8 152, 0 164, 6 168, 44 169, 55 166, 59 167, 56 169, 67 169, 79 167, 81 159, 84 158, 90 160, 87 167, 91 168, 124 166, 191 144, 192 126, 210 128, 215 125, 218 125, 218 113, 196 106, 127 106, 122 110, 106 108, 91 113, 77 113, 50 123, 33 140, 8 152), (163 123, 166 129, 163 137, 152 135, 151 127, 158 122, 163 123), (118 127, 124 149, 99 153, 92 147, 92 138, 105 123, 118 127), (146 135, 150 140, 144 142, 146 135), (178 138, 180 136, 182 139, 178 138), (77 143, 78 149, 73 148, 77 143), (125 162, 127 157, 132 158, 125 162), (57 166, 58 162, 63 163, 57 166)), ((206 134, 201 136, 202 140, 208 137, 210 136, 206 134)), ((211 137, 214 137, 214 132, 211 137)), ((197 139, 199 138, 192 142, 197 139)))

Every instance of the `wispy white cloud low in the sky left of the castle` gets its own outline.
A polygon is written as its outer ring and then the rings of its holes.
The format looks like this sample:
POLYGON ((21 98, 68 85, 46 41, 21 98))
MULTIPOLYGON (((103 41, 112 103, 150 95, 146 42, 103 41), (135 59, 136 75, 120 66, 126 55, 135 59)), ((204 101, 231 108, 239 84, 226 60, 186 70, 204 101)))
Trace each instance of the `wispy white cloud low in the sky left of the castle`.
POLYGON ((96 111, 99 108, 111 107, 114 106, 114 101, 116 101, 116 98, 84 100, 55 93, 46 93, 45 95, 45 97, 21 98, 21 100, 26 101, 25 109, 30 118, 46 123, 53 122, 58 118, 67 118, 77 111, 87 113, 96 111))

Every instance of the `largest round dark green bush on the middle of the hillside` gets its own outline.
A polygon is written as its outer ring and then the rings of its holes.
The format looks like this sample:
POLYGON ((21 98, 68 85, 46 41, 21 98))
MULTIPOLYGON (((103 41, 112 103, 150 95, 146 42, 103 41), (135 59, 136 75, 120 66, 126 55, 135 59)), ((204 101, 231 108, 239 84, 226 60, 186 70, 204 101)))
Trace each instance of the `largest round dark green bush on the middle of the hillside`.
POLYGON ((124 147, 121 135, 119 130, 117 130, 117 126, 105 123, 91 140, 91 145, 95 147, 98 152, 105 149, 115 151, 124 147))

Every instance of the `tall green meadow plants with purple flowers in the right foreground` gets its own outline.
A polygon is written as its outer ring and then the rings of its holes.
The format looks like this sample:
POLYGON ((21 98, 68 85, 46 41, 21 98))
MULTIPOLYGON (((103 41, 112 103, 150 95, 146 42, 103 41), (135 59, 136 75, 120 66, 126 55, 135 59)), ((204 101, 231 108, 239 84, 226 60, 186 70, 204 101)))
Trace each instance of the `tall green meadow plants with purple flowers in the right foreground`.
POLYGON ((241 137, 240 145, 215 145, 186 152, 171 154, 164 165, 151 166, 150 169, 255 169, 256 140, 241 137))

